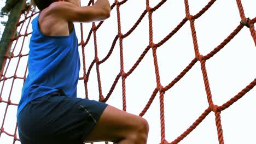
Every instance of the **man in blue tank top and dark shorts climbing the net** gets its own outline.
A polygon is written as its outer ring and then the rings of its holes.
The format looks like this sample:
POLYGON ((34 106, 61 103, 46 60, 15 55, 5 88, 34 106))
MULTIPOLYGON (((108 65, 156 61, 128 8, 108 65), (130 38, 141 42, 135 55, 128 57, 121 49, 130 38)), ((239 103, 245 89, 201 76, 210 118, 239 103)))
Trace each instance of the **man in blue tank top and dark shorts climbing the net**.
POLYGON ((79 0, 33 3, 40 12, 32 21, 28 76, 18 105, 21 143, 147 143, 146 119, 77 98, 80 59, 73 22, 107 19, 109 2, 88 7, 79 7, 79 0))

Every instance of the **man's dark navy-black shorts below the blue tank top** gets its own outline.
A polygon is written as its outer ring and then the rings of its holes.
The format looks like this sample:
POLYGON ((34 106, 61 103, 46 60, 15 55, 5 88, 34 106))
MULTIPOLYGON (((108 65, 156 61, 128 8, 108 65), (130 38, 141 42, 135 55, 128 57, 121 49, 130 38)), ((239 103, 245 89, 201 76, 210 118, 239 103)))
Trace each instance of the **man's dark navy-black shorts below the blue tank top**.
POLYGON ((34 99, 17 119, 21 144, 82 144, 106 107, 60 92, 34 99))

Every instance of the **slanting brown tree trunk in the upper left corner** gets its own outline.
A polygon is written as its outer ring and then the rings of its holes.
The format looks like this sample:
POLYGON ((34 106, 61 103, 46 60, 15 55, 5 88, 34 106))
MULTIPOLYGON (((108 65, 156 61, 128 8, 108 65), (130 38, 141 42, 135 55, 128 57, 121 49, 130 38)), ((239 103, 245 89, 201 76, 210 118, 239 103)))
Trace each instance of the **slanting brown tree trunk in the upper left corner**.
MULTIPOLYGON (((16 0, 8 0, 8 2, 14 2, 16 0)), ((17 30, 17 23, 20 19, 21 10, 24 8, 24 5, 26 4, 26 0, 19 0, 14 4, 14 7, 11 9, 9 18, 7 21, 7 25, 4 28, 4 32, 2 35, 2 39, 0 41, 0 69, 1 73, 3 71, 3 66, 5 65, 4 56, 5 53, 10 49, 11 46, 11 38, 13 38, 13 35, 16 33, 17 30)), ((5 5, 6 6, 6 5, 5 5)), ((0 76, 1 77, 1 76, 0 76)))

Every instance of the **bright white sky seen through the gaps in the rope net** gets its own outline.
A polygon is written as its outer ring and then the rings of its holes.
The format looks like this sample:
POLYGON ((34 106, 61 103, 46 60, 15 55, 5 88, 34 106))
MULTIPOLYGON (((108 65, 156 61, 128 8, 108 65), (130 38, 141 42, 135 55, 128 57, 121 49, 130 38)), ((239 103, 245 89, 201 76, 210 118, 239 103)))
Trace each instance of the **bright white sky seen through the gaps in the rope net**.
MULTIPOLYGON (((3 1, 0 1, 3 4, 3 1)), ((114 0, 111 0, 112 4, 114 0)), ((150 1, 150 6, 154 7, 160 0, 150 1)), ((189 0, 190 13, 195 15, 209 0, 196 1, 189 0)), ((88 0, 83 1, 83 5, 88 0)), ((242 0, 246 17, 253 19, 256 16, 256 1, 242 0)), ((146 9, 146 1, 129 0, 120 7, 121 31, 125 34, 138 20, 139 16, 146 9)), ((168 33, 174 29, 185 17, 184 1, 167 1, 153 13, 153 40, 159 43, 168 33)), ((235 0, 216 1, 212 7, 206 11, 199 19, 195 20, 195 29, 199 52, 207 55, 228 35, 234 31, 241 21, 235 0)), ((91 23, 84 23, 84 37, 88 36, 91 23)), ((148 15, 146 15, 139 26, 123 40, 124 48, 124 69, 129 71, 138 57, 146 49, 149 41, 148 15)), ((80 42, 80 24, 75 24, 75 30, 80 42)), ((2 33, 1 27, 1 33, 2 33)), ((31 29, 30 29, 31 31, 31 29)), ((22 30, 24 32, 24 30, 22 30)), ((111 16, 97 31, 98 57, 103 59, 112 45, 117 28, 117 9, 111 11, 111 16)), ((28 40, 22 54, 28 52, 28 40)), ((86 69, 88 69, 94 58, 94 40, 91 37, 89 44, 85 48, 86 69)), ((22 42, 20 38, 18 44, 22 42)), ((18 55, 20 48, 14 51, 18 55)), ((82 52, 82 49, 80 49, 82 52)), ((185 25, 169 39, 164 45, 158 48, 158 63, 161 84, 168 85, 181 71, 187 67, 195 57, 193 39, 191 36, 190 23, 185 25)), ((80 53, 82 61, 82 53, 80 53)), ((21 64, 17 75, 22 77, 25 72, 27 57, 21 58, 21 64), (23 66, 22 66, 23 65, 23 66)), ((14 75, 14 70, 18 58, 13 58, 7 77, 14 75)), ((243 88, 249 85, 256 78, 256 49, 247 27, 244 27, 234 39, 230 41, 211 59, 206 61, 206 69, 210 82, 213 103, 222 105, 234 97, 243 88)), ((106 97, 115 76, 120 71, 119 40, 109 59, 100 65, 101 83, 103 95, 106 97)), ((81 67, 80 76, 83 76, 81 67)), ((2 98, 8 99, 11 82, 13 79, 5 81, 2 98)), ((14 92, 11 93, 11 101, 19 103, 22 80, 15 80, 14 92)), ((2 82, 0 83, 2 88, 2 82)), ((147 104, 150 95, 156 87, 155 71, 152 50, 149 50, 142 62, 135 71, 126 79, 126 102, 127 112, 139 115, 147 104)), ((96 67, 92 68, 88 83, 89 98, 98 100, 98 84, 96 67)), ((78 95, 84 98, 85 90, 83 81, 78 84, 78 95)), ((122 107, 121 80, 119 80, 115 90, 107 101, 107 104, 123 109, 122 107)), ((254 130, 256 129, 255 113, 256 88, 253 88, 243 98, 222 111, 222 127, 225 143, 256 143, 254 130)), ((195 120, 207 109, 207 96, 200 62, 171 89, 165 93, 165 133, 166 140, 172 142, 181 135, 195 120)), ((3 114, 6 104, 0 104, 0 124, 2 126, 3 114)), ((4 129, 10 134, 14 133, 16 124, 16 106, 9 106, 8 115, 4 122, 4 129)), ((160 143, 160 106, 159 94, 147 111, 146 118, 150 125, 148 143, 160 143)), ((2 134, 0 143, 12 143, 13 137, 2 134)), ((20 142, 15 142, 20 143, 20 142)), ((103 143, 103 142, 99 142, 103 143)), ((211 112, 199 126, 192 131, 180 143, 218 143, 217 128, 214 113, 211 112)))

